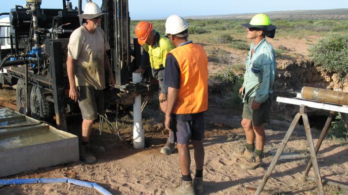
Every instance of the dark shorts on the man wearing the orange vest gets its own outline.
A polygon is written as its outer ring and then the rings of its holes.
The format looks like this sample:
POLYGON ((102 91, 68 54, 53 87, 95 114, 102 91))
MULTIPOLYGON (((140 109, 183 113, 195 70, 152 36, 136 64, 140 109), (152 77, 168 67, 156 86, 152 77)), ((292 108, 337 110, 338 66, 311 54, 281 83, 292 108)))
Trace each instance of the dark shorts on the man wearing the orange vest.
POLYGON ((190 139, 200 141, 204 138, 204 113, 186 115, 172 114, 171 129, 178 144, 189 144, 190 139))

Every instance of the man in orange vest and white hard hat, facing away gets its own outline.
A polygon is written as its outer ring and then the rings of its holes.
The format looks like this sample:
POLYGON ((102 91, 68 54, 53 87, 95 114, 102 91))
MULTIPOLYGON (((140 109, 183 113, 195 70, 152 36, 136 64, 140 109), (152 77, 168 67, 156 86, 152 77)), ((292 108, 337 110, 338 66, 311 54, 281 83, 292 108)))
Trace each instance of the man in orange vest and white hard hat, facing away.
POLYGON ((204 112, 208 109, 208 57, 202 45, 187 40, 188 23, 177 15, 166 21, 166 33, 176 47, 166 59, 164 85, 168 86, 165 125, 177 142, 181 182, 166 195, 203 193, 204 112), (196 173, 190 173, 189 143, 194 148, 196 173))

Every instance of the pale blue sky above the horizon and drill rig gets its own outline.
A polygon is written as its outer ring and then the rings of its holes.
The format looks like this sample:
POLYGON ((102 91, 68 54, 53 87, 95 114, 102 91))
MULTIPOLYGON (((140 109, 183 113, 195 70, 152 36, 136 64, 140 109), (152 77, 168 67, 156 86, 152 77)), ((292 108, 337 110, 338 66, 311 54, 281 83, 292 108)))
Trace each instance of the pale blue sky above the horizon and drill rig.
MULTIPOLYGON (((42 0, 42 8, 61 8, 62 0, 42 0)), ((77 6, 78 0, 71 0, 77 6)), ((86 0, 83 0, 83 7, 86 0)), ((99 6, 102 0, 94 0, 99 6)), ((14 4, 25 0, 1 0, 0 12, 8 12, 14 4)), ((180 16, 260 13, 299 9, 348 8, 348 0, 129 0, 133 20, 165 19, 180 16), (256 3, 257 2, 257 3, 256 3)))

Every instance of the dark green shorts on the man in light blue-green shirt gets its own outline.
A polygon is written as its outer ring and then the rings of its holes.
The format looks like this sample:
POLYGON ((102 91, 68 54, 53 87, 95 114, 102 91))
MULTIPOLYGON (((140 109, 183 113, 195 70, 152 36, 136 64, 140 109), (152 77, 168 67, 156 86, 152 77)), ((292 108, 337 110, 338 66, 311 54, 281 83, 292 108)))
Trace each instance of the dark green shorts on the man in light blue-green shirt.
POLYGON ((249 97, 248 102, 244 102, 242 117, 253 121, 253 126, 261 126, 263 123, 269 123, 269 110, 272 105, 272 94, 269 94, 268 99, 261 103, 257 110, 251 109, 255 97, 249 97))

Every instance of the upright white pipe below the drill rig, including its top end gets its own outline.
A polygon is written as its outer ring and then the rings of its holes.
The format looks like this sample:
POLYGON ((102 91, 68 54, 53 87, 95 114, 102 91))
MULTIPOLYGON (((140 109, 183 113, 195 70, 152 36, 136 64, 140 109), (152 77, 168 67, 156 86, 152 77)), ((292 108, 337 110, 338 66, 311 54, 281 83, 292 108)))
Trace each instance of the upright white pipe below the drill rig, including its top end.
MULTIPOLYGON (((141 73, 133 72, 133 83, 141 82, 141 73)), ((142 149, 145 147, 145 133, 142 129, 142 120, 141 120, 141 95, 134 97, 133 103, 133 147, 135 149, 142 149)))

